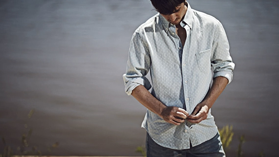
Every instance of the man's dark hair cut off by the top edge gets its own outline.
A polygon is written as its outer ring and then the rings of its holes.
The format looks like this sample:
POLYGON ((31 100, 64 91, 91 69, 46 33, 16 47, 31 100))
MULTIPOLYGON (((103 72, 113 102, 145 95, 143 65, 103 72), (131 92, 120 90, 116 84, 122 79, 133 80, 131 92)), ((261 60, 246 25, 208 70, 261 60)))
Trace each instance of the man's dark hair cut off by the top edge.
POLYGON ((150 0, 154 8, 161 14, 169 15, 176 12, 179 4, 185 3, 185 0, 150 0))

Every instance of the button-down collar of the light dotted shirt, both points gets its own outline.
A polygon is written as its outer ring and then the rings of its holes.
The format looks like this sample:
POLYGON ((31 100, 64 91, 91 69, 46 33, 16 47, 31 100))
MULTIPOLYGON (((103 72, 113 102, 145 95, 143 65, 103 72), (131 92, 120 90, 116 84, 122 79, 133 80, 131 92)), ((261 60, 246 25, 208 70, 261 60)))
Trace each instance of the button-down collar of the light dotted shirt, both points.
MULTIPOLYGON (((192 29, 192 24, 193 24, 193 10, 190 6, 190 4, 188 2, 186 2, 186 6, 187 6, 187 11, 186 14, 184 16, 184 19, 181 21, 183 23, 181 23, 182 26, 184 26, 185 24, 187 24, 190 29, 192 29)), ((164 29, 166 30, 166 32, 168 31, 169 25, 171 25, 170 22, 168 22, 161 14, 159 14, 159 18, 163 24, 164 29)))

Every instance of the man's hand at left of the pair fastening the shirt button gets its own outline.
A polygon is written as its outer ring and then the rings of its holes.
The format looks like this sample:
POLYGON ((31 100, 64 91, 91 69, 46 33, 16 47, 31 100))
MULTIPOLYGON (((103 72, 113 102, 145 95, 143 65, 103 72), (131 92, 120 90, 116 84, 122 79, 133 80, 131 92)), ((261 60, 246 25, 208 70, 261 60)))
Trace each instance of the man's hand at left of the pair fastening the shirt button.
POLYGON ((164 108, 160 116, 168 123, 180 125, 185 121, 188 115, 189 113, 184 109, 171 106, 164 108))

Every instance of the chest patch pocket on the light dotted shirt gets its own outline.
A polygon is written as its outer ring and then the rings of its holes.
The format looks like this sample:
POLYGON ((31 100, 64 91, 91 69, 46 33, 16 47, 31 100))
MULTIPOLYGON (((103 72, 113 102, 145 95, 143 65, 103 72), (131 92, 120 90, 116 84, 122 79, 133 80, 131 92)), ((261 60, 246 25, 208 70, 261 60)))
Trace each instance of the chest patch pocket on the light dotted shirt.
POLYGON ((206 73, 211 68, 211 48, 205 51, 201 51, 199 53, 196 53, 196 58, 198 62, 199 69, 206 73))

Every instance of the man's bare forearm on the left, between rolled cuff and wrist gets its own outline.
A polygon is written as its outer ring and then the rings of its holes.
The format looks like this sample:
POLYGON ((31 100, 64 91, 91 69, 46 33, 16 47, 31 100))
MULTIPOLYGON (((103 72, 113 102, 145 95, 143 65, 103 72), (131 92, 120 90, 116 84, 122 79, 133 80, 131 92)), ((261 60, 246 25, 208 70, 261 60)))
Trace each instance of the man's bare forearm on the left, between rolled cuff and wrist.
MULTIPOLYGON (((148 110, 161 116, 163 109, 166 108, 162 102, 156 99, 146 88, 142 85, 136 87, 132 94, 143 106, 148 110)), ((162 116, 161 116, 162 117, 162 116)))

